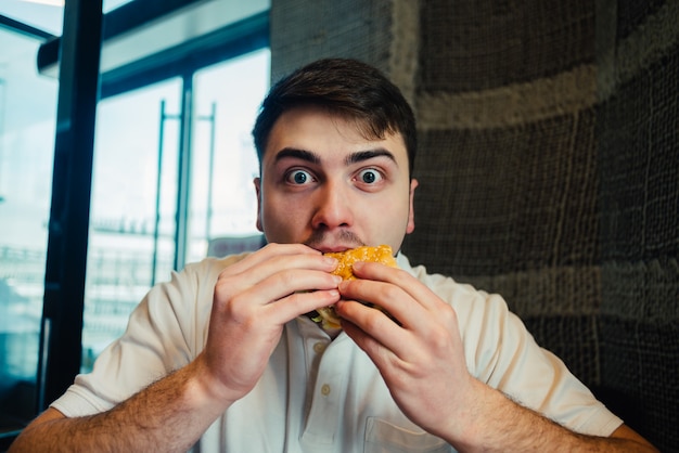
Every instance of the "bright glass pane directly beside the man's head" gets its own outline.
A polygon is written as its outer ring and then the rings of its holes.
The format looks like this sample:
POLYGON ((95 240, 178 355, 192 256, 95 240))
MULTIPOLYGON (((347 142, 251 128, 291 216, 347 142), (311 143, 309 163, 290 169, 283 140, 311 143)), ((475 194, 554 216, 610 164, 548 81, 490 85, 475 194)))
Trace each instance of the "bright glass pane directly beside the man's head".
POLYGON ((258 234, 251 131, 269 88, 269 61, 262 49, 194 77, 189 261, 204 258, 210 240, 258 234))

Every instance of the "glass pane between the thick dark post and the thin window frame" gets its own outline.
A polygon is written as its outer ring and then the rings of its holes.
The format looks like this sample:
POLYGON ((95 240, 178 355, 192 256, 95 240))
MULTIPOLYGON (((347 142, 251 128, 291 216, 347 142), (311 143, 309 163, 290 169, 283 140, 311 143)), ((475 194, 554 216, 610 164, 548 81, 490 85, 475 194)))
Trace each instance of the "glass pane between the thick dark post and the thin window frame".
POLYGON ((123 334, 131 310, 154 281, 169 279, 175 254, 180 92, 181 80, 171 79, 99 103, 84 372, 123 334))

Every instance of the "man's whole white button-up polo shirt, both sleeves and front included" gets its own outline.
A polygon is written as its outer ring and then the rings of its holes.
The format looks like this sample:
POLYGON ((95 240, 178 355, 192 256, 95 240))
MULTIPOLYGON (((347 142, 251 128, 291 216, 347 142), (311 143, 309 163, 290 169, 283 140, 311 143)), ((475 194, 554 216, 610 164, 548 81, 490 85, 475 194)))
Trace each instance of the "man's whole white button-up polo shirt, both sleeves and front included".
MULTIPOLYGON (((219 272, 241 259, 206 259, 153 288, 125 335, 52 405, 68 417, 106 411, 203 349, 219 272)), ((497 295, 398 264, 456 309, 466 364, 479 380, 579 432, 608 436, 622 420, 552 353, 539 348, 497 295)), ((451 452, 412 424, 370 359, 344 333, 334 340, 298 318, 255 388, 204 433, 200 452, 451 452)))

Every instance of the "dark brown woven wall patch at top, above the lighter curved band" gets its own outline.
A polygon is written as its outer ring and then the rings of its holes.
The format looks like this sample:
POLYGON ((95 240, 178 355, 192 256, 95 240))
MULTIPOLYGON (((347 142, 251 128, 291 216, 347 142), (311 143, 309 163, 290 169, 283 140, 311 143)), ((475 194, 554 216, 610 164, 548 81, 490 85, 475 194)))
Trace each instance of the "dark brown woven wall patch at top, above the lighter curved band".
POLYGON ((423 91, 483 90, 594 61, 594 2, 424 0, 423 91))

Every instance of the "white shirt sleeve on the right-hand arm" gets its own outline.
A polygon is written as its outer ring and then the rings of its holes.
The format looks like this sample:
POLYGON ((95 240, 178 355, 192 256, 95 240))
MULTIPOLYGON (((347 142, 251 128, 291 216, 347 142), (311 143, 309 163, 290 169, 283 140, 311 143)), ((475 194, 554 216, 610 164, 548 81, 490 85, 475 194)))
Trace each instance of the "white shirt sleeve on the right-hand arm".
POLYGON ((478 380, 577 432, 610 436, 623 424, 535 341, 502 297, 426 274, 422 267, 413 273, 456 309, 466 365, 478 380))

